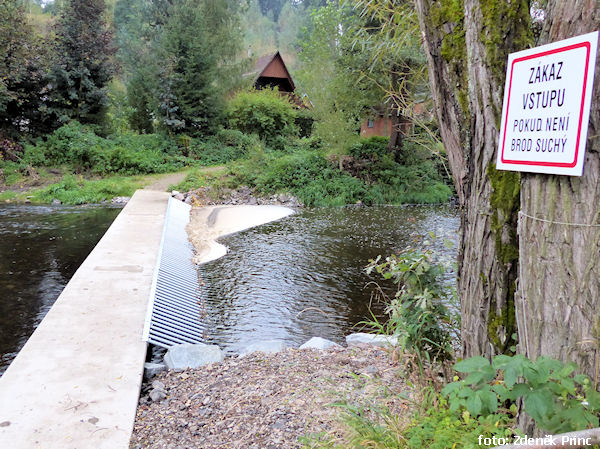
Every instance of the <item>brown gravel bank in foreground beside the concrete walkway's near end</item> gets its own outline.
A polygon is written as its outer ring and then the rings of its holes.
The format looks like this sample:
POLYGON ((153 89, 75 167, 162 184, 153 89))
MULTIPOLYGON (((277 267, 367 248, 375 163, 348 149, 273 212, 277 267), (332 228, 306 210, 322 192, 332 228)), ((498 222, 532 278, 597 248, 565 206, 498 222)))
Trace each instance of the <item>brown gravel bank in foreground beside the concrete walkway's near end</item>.
POLYGON ((131 448, 292 449, 311 434, 339 435, 346 402, 402 416, 410 394, 388 351, 359 346, 252 353, 161 373, 166 399, 142 396, 131 448))

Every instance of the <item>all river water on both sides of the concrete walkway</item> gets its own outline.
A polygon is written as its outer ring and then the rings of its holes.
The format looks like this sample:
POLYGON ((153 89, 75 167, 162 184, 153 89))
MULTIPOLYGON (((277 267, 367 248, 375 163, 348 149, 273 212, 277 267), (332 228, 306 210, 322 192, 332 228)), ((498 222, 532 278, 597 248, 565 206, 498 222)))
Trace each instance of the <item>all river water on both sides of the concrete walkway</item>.
MULTIPOLYGON (((119 212, 0 207, 0 374, 119 212)), ((207 341, 228 351, 253 340, 299 345, 315 335, 342 342, 369 318, 367 284, 379 281, 364 271, 369 259, 429 241, 452 260, 455 250, 442 241, 457 229, 450 206, 317 208, 223 238, 229 253, 199 268, 207 341)), ((381 304, 372 310, 380 314, 381 304)))

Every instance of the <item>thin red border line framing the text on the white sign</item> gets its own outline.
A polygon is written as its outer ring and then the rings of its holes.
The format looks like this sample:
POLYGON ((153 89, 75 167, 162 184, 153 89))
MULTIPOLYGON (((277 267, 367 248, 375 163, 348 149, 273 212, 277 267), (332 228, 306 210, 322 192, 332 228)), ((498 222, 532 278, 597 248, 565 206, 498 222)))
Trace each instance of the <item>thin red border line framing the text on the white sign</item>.
POLYGON ((547 50, 547 51, 543 51, 541 53, 534 53, 531 55, 527 55, 527 56, 523 56, 521 58, 517 58, 515 59, 510 67, 510 81, 508 84, 508 99, 507 99, 507 103, 506 103, 506 116, 504 117, 504 136, 502 137, 502 151, 501 151, 501 156, 500 156, 500 160, 502 161, 502 163, 504 164, 515 164, 515 165, 536 165, 536 166, 544 166, 544 167, 567 167, 567 168, 573 168, 577 165, 577 159, 579 156, 579 143, 581 141, 581 126, 582 126, 582 122, 583 122, 583 105, 585 103, 585 93, 586 93, 586 87, 587 87, 587 79, 588 79, 588 69, 589 69, 589 65, 590 65, 590 53, 591 53, 591 44, 589 41, 585 41, 585 42, 579 42, 577 44, 571 44, 571 45, 567 45, 565 47, 560 47, 560 48, 555 48, 553 50, 547 50), (575 50, 576 48, 581 48, 581 47, 585 47, 587 49, 587 55, 585 58, 585 72, 584 72, 584 78, 583 78, 583 92, 581 94, 581 107, 579 110, 579 127, 577 129, 577 142, 575 144, 575 160, 573 162, 544 162, 544 161, 520 161, 520 160, 511 160, 511 159, 504 159, 504 148, 506 147, 506 130, 507 130, 507 125, 508 125, 508 111, 509 111, 509 107, 510 107, 510 92, 512 89, 512 77, 513 77, 513 73, 514 73, 514 68, 515 68, 515 64, 517 62, 522 62, 522 61, 526 61, 529 59, 534 59, 534 58, 540 58, 542 56, 547 56, 547 55, 552 55, 555 53, 561 53, 563 51, 569 51, 569 50, 575 50))

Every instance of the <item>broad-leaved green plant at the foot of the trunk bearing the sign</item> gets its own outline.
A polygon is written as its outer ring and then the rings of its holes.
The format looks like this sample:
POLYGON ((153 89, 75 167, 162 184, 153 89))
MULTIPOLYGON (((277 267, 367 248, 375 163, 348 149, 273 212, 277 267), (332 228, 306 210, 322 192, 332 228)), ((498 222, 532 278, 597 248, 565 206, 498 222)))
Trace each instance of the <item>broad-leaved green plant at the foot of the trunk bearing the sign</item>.
POLYGON ((497 355, 491 363, 481 356, 471 357, 458 362, 454 369, 467 376, 442 390, 451 411, 486 416, 503 405, 515 407, 522 399, 525 412, 549 432, 599 426, 600 393, 587 376, 574 374, 575 363, 497 355))

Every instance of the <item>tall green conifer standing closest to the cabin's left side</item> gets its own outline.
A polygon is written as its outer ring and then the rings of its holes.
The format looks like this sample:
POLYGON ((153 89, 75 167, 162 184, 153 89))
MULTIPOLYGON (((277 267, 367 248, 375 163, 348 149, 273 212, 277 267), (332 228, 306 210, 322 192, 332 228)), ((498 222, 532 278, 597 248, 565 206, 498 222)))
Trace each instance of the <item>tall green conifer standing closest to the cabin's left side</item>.
POLYGON ((157 55, 158 115, 172 131, 207 134, 219 124, 225 91, 233 85, 241 40, 232 4, 179 0, 162 30, 157 55))

